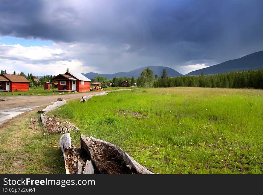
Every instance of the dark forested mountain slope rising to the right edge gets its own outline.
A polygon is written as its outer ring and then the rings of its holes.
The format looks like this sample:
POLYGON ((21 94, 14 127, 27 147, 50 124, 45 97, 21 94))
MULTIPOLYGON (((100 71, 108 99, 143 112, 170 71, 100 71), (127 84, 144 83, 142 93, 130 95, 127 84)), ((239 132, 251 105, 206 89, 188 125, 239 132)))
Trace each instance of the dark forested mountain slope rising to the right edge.
POLYGON ((195 70, 186 75, 201 75, 202 72, 204 75, 229 73, 231 71, 240 72, 243 70, 256 70, 259 68, 263 68, 263 51, 251 53, 238 59, 228 60, 217 65, 195 70))

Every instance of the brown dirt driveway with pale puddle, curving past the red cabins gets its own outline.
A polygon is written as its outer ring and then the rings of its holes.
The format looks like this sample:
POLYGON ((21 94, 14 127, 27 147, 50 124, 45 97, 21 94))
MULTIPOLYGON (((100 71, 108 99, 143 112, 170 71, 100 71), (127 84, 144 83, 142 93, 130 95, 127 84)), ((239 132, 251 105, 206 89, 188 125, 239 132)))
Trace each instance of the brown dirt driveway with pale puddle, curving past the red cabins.
POLYGON ((14 97, 0 97, 0 124, 7 122, 14 116, 25 113, 27 111, 51 105, 56 102, 57 98, 63 98, 66 101, 73 99, 81 99, 82 96, 95 95, 103 92, 133 90, 133 89, 117 89, 108 91, 94 91, 88 93, 71 93, 56 96, 14 96, 14 97))

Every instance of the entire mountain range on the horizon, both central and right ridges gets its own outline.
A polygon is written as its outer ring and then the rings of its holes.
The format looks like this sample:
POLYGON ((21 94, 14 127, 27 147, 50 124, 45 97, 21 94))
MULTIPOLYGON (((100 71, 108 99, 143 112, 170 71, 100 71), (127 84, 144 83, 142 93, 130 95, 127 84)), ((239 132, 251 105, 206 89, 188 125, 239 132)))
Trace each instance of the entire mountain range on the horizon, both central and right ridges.
MULTIPOLYGON (((170 76, 170 77, 182 76, 182 74, 178 73, 176 70, 169 68, 169 67, 165 67, 165 66, 145 66, 145 67, 141 67, 141 68, 132 70, 130 72, 118 72, 114 74, 99 74, 99 73, 93 73, 93 72, 86 73, 86 74, 82 73, 82 74, 88 77, 89 79, 94 79, 97 76, 103 76, 103 77, 106 77, 107 79, 113 79, 114 76, 116 77, 126 76, 128 78, 131 78, 133 76, 134 78, 138 78, 140 76, 141 71, 147 67, 149 67, 153 71, 154 75, 157 74, 158 77, 162 75, 163 69, 167 71, 167 76, 170 76)), ((226 62, 222 62, 217 65, 212 65, 206 68, 195 70, 195 71, 187 73, 186 75, 201 75, 202 72, 204 73, 204 75, 228 73, 231 71, 240 72, 243 70, 251 70, 251 69, 256 70, 259 68, 263 68, 263 51, 251 53, 251 54, 248 54, 238 59, 228 60, 226 62)))

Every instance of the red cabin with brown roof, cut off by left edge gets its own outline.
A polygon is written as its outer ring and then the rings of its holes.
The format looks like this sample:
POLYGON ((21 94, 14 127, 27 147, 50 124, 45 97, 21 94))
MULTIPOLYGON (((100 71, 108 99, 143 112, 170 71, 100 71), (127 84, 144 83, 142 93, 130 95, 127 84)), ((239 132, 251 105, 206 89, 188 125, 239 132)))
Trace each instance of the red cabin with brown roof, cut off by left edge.
POLYGON ((0 75, 0 89, 5 91, 28 91, 29 81, 20 75, 1 74, 0 75))

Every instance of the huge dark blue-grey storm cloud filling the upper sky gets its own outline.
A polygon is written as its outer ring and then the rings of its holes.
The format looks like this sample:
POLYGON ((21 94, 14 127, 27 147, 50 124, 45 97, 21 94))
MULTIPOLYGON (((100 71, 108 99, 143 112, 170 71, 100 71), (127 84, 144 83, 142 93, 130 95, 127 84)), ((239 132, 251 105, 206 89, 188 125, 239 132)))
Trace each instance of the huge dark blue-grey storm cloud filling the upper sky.
POLYGON ((261 0, 1 1, 0 34, 113 49, 128 44, 126 53, 144 58, 133 67, 176 67, 263 50, 262 7, 261 0), (147 58, 158 64, 145 64, 147 58))

